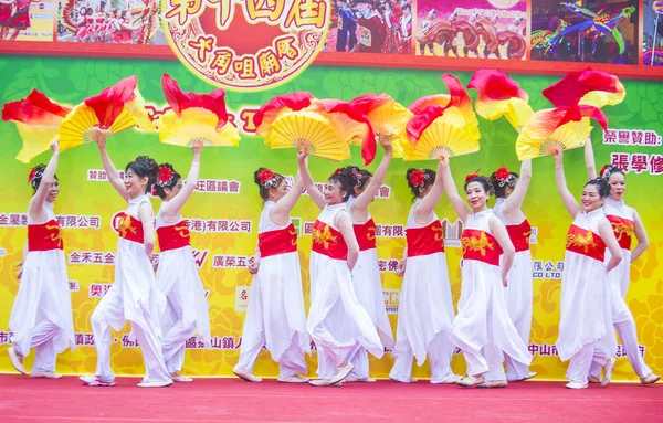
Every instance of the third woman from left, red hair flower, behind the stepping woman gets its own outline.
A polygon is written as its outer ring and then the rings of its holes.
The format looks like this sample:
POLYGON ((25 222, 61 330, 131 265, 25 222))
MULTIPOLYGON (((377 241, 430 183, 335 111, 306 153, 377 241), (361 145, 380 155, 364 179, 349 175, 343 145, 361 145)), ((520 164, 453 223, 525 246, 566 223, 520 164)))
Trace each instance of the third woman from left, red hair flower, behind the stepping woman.
POLYGON ((193 144, 191 150, 193 160, 186 183, 170 163, 159 165, 156 181, 157 193, 162 200, 156 225, 160 250, 157 288, 168 302, 161 318, 161 351, 173 382, 193 381, 181 374, 187 339, 198 334, 204 345, 210 341, 204 287, 191 251, 189 228, 180 214, 196 189, 202 141, 193 144))

